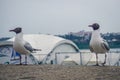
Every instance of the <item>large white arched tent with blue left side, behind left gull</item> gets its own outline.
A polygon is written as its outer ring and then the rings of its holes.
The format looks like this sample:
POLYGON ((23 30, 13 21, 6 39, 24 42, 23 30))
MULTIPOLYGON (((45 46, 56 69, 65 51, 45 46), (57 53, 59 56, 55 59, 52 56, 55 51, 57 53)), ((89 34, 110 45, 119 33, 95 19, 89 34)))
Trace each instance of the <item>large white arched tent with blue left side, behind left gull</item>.
MULTIPOLYGON (((28 41, 32 47, 42 49, 28 56, 28 64, 56 64, 55 54, 59 52, 79 53, 78 47, 70 40, 66 40, 53 35, 46 34, 25 34, 24 40, 28 41)), ((12 47, 14 37, 0 42, 0 64, 19 64, 19 54, 12 47)), ((22 56, 24 63, 24 56, 22 56)))

